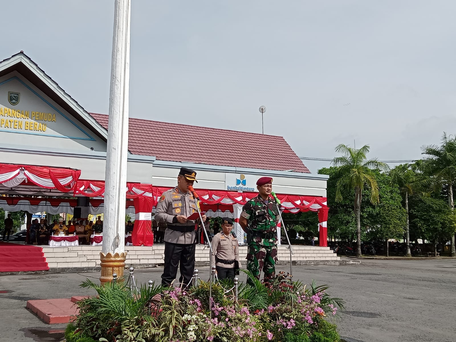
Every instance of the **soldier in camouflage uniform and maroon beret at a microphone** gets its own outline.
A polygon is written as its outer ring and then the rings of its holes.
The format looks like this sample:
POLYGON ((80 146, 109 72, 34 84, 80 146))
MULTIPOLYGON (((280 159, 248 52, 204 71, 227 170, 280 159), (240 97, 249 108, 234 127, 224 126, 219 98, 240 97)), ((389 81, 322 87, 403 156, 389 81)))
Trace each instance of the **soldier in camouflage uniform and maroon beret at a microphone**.
POLYGON ((277 223, 279 208, 270 197, 272 178, 261 177, 257 181, 259 194, 245 203, 242 208, 239 224, 248 234, 247 269, 259 279, 261 270, 264 280, 275 276, 277 262, 277 223))

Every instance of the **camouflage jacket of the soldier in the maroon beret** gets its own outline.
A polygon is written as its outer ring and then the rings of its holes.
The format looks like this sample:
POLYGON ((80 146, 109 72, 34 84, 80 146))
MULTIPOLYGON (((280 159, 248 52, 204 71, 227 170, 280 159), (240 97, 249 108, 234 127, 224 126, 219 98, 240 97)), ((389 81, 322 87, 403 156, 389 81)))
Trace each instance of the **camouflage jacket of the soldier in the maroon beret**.
MULTIPOLYGON (((249 222, 249 233, 276 233, 279 223, 279 209, 273 199, 264 201, 259 195, 244 204, 241 216, 249 222), (267 202, 267 204, 266 204, 267 202)), ((277 244, 277 236, 271 239, 254 237, 251 244, 271 246, 277 244)))

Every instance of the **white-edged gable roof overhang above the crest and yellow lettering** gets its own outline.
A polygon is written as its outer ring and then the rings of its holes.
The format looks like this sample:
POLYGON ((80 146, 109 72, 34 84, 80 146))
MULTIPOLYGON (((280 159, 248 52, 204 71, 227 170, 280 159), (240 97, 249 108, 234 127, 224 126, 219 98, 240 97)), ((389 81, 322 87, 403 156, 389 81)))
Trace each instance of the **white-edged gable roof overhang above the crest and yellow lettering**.
POLYGON ((13 71, 20 73, 30 83, 73 115, 80 122, 86 123, 89 130, 103 140, 107 140, 108 133, 78 102, 72 98, 59 84, 47 75, 38 64, 33 62, 23 51, 0 61, 0 77, 13 71))

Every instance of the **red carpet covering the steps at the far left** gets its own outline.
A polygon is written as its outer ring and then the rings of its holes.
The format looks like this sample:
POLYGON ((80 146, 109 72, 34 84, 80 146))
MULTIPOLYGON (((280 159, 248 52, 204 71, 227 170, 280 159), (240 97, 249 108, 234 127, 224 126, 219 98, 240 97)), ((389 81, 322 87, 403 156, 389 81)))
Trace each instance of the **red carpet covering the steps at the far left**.
POLYGON ((0 272, 47 270, 41 247, 0 242, 0 272))

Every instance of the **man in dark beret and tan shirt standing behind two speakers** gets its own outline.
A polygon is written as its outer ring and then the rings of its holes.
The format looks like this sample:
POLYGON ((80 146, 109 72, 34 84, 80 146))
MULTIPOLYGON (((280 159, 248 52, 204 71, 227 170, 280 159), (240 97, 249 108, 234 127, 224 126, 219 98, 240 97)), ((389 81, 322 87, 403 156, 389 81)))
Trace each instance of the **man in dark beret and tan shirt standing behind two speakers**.
POLYGON ((218 279, 234 280, 234 275, 239 274, 239 247, 238 239, 231 233, 233 221, 224 218, 222 231, 212 238, 212 264, 215 264, 218 279))

